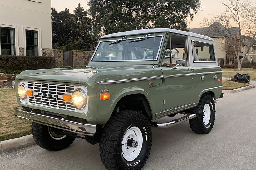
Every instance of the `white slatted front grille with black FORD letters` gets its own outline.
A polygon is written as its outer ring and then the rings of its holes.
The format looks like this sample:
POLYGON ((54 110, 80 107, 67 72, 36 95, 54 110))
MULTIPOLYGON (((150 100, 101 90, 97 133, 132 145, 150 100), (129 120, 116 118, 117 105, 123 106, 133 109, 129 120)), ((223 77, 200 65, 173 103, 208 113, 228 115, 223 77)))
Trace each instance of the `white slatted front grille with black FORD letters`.
POLYGON ((62 97, 63 94, 72 95, 75 86, 41 82, 27 82, 27 85, 28 90, 33 90, 34 94, 32 97, 28 97, 29 103, 59 109, 76 110, 72 102, 66 102, 62 97))

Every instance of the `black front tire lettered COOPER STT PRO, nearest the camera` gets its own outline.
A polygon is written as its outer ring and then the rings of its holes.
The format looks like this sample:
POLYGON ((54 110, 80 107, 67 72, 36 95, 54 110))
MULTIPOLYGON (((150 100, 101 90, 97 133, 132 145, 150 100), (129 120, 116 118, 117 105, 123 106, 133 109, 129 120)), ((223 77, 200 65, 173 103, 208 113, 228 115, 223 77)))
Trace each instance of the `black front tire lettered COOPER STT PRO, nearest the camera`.
POLYGON ((146 163, 152 145, 152 133, 148 119, 141 113, 125 110, 113 114, 103 128, 100 157, 108 170, 140 170, 146 163), (122 139, 128 129, 137 127, 143 136, 139 155, 127 161, 122 154, 122 139))

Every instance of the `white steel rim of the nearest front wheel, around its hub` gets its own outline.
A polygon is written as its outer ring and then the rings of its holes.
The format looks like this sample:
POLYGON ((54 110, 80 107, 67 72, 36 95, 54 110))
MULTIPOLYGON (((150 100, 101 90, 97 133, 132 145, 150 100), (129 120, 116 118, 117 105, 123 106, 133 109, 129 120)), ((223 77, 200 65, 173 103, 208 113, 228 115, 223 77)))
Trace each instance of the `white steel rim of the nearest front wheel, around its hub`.
POLYGON ((136 126, 129 128, 122 139, 122 148, 121 148, 122 155, 126 159, 126 161, 133 161, 139 156, 142 148, 142 144, 143 144, 143 136, 140 129, 136 126), (127 146, 127 141, 129 139, 138 142, 136 148, 127 146))

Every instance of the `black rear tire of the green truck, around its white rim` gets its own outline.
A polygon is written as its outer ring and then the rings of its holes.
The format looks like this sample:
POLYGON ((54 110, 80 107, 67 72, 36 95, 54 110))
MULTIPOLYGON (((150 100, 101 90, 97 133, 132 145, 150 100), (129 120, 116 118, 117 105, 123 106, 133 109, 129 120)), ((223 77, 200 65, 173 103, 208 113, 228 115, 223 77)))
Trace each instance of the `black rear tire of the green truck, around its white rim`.
POLYGON ((193 112, 196 114, 196 117, 189 120, 190 128, 198 134, 208 134, 214 125, 215 121, 215 103, 210 95, 202 95, 202 97, 199 100, 198 105, 192 109, 193 112), (203 115, 204 115, 204 105, 209 104, 210 106, 210 120, 208 124, 204 124, 203 122, 203 115))

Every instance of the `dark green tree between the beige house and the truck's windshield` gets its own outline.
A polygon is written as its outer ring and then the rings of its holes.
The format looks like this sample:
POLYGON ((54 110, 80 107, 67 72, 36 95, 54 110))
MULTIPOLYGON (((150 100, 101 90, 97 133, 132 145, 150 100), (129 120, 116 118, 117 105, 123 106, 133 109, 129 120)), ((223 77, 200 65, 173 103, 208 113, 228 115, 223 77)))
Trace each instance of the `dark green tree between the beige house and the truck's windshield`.
POLYGON ((52 8, 52 47, 67 50, 91 50, 97 45, 96 36, 90 34, 92 20, 80 3, 71 14, 67 8, 57 12, 52 8))

